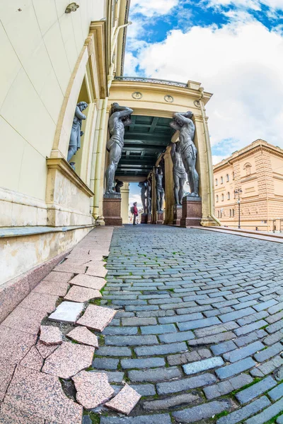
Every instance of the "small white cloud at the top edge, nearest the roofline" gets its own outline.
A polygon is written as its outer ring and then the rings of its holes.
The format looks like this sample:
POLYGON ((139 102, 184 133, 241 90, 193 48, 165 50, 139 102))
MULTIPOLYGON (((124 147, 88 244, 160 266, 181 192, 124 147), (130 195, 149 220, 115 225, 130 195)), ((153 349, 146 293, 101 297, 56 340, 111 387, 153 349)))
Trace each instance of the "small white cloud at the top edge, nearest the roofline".
POLYGON ((144 16, 166 15, 171 9, 177 6, 178 0, 132 0, 131 14, 141 13, 144 16))

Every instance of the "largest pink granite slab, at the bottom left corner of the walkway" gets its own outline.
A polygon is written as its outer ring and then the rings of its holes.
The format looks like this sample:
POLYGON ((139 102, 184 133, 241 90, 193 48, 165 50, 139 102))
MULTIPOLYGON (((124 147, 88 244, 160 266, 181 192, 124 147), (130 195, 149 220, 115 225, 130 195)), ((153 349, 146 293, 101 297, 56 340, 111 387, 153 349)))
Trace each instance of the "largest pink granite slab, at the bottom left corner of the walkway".
POLYGON ((81 424, 83 408, 71 401, 54 375, 19 365, 8 387, 4 404, 55 423, 81 424))

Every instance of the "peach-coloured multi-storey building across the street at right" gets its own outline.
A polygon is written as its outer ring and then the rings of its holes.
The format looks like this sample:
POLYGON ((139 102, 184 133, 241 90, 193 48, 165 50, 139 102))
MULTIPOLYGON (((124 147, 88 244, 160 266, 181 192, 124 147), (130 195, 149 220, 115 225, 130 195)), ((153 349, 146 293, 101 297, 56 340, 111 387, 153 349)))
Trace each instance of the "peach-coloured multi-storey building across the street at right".
POLYGON ((238 228, 240 217, 241 228, 283 230, 283 150, 256 140, 221 160, 214 195, 221 225, 238 228))

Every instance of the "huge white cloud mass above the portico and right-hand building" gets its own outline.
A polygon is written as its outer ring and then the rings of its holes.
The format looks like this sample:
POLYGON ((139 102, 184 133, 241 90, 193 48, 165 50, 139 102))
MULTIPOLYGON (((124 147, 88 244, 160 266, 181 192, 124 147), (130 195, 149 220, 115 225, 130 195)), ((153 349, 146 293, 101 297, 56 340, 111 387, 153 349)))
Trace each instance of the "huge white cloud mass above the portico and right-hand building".
MULTIPOLYGON (((146 76, 202 82, 216 155, 255 139, 283 146, 283 37, 255 20, 173 30, 137 54, 146 76), (229 140, 226 141, 225 140, 229 140)), ((127 73, 127 69, 125 69, 127 73)))

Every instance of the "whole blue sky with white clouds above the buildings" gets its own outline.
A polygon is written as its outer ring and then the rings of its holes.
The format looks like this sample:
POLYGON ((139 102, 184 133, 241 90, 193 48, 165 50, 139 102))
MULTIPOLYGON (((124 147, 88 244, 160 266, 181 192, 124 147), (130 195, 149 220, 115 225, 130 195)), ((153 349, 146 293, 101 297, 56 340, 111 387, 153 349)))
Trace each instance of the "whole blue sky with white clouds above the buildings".
POLYGON ((213 93, 213 163, 256 139, 283 148, 283 0, 131 0, 129 20, 125 76, 213 93))

